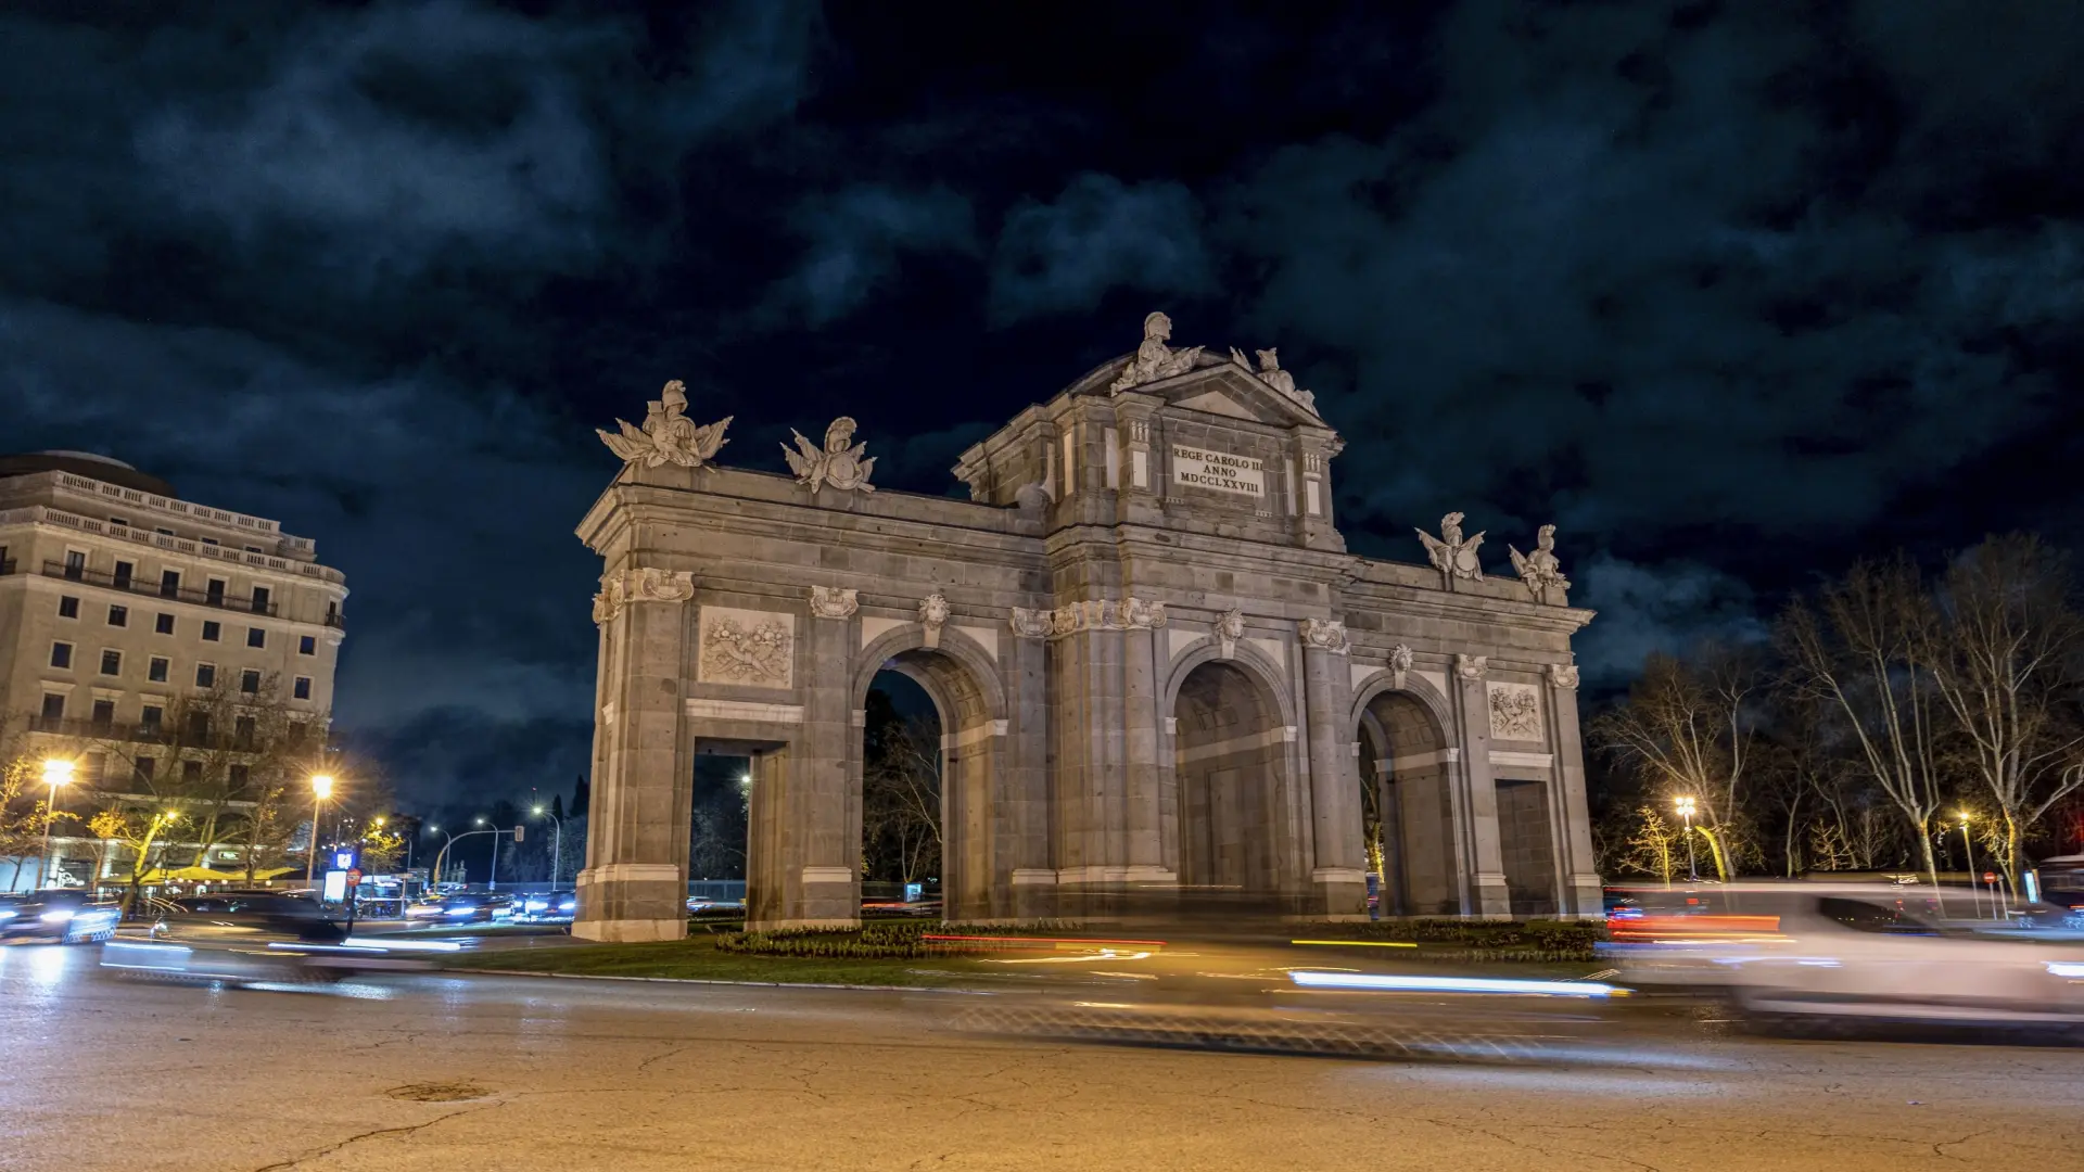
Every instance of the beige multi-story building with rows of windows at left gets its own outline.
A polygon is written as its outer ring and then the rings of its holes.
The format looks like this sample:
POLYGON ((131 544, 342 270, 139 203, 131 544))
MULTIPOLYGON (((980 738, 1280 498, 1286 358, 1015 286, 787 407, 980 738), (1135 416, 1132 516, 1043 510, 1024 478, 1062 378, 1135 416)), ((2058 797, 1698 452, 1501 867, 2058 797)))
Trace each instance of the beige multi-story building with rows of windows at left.
POLYGON ((98 455, 0 457, 0 749, 77 761, 58 805, 83 809, 163 792, 144 782, 194 774, 210 747, 250 749, 263 709, 319 742, 346 596, 311 538, 271 519, 98 455), (229 728, 196 728, 204 699, 229 728))

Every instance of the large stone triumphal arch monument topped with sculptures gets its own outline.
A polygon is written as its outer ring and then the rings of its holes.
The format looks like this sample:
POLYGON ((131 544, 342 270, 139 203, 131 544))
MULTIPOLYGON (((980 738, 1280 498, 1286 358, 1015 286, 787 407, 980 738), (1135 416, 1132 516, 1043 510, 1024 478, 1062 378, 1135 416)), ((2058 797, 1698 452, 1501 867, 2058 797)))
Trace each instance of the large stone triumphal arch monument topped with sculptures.
POLYGON ((1215 886, 1359 918, 1363 803, 1400 813, 1388 911, 1598 915, 1571 634, 1544 530, 1484 578, 1346 553, 1338 434, 1273 350, 1175 348, 1152 313, 963 453, 971 500, 877 490, 852 419, 721 467, 667 384, 579 536, 604 571, 575 932, 686 932, 694 757, 752 759, 748 922, 861 909, 869 682, 942 726, 950 920, 1077 915, 1215 886), (1371 786, 1363 792, 1365 784, 1371 786))

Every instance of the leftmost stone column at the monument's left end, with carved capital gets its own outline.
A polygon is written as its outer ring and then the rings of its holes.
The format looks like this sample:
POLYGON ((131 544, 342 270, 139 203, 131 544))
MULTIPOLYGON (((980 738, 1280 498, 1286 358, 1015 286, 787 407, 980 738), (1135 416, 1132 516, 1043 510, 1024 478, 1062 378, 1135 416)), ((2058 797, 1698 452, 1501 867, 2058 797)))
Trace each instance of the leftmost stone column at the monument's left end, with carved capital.
POLYGON ((594 619, 602 663, 594 744, 600 772, 588 807, 573 936, 677 941, 688 934, 688 801, 694 780, 681 742, 688 571, 627 569, 602 580, 594 619), (675 817, 677 815, 677 817, 675 817))

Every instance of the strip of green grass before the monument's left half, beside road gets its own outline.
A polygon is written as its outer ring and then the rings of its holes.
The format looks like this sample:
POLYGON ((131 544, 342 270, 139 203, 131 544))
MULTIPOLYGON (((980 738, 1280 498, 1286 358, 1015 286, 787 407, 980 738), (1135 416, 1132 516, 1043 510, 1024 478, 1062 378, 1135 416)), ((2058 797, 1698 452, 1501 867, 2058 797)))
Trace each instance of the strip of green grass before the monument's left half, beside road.
POLYGON ((773 980, 792 984, 904 984, 934 988, 979 980, 961 959, 813 959, 719 953, 713 936, 642 945, 567 945, 483 951, 444 961, 456 970, 559 972, 567 976, 671 976, 681 980, 773 980))

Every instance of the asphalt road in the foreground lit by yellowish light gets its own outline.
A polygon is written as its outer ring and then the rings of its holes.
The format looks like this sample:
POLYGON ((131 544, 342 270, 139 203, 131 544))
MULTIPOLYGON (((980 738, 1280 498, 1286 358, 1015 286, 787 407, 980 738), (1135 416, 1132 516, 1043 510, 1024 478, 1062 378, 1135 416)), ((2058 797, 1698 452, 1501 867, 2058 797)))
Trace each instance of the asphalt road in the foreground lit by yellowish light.
POLYGON ((948 993, 269 993, 92 959, 0 949, 6 1172, 2084 1166, 2078 1049, 1759 1041, 1638 1007, 1548 1061, 1350 1061, 965 1034, 988 999, 948 993))

